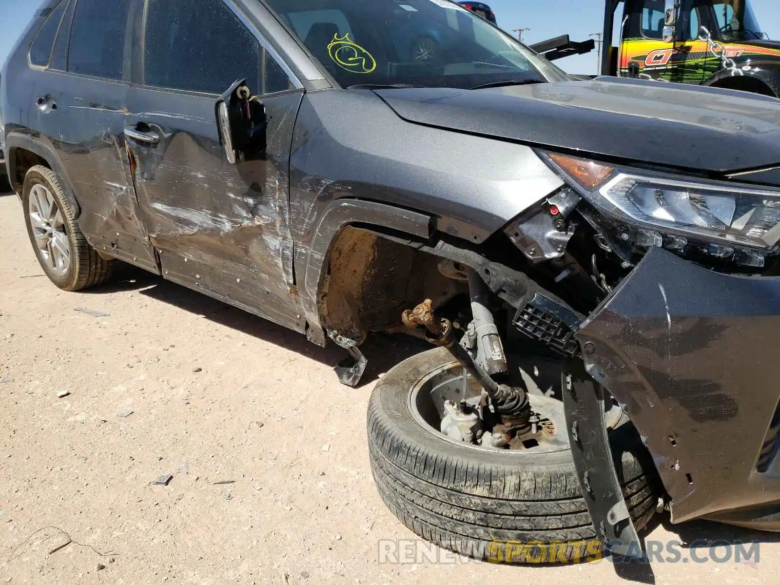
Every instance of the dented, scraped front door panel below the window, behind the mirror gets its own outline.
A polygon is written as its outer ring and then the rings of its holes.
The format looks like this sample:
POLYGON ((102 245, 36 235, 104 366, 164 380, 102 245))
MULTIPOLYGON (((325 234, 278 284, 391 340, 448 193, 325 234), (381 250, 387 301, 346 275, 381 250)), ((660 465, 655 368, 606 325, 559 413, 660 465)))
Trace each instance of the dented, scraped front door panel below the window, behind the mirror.
POLYGON ((237 165, 225 158, 213 98, 130 90, 125 123, 160 137, 158 144, 129 144, 144 225, 163 276, 303 331, 288 178, 300 100, 301 94, 288 94, 264 101, 264 157, 237 165))

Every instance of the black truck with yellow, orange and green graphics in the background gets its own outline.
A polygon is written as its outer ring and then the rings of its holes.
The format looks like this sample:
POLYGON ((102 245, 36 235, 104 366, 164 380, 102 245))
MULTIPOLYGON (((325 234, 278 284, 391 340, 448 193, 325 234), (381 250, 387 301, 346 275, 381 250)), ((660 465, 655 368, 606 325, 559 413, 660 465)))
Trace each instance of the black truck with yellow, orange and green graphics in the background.
POLYGON ((780 41, 749 0, 606 0, 604 41, 605 75, 780 97, 780 41))

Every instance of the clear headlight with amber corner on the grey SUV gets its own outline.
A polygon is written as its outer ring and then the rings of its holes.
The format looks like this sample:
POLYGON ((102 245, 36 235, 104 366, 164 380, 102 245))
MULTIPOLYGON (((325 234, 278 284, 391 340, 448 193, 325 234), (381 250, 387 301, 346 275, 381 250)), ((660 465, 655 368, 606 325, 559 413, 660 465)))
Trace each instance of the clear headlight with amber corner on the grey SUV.
POLYGON ((590 204, 630 225, 763 250, 780 241, 780 190, 540 154, 590 204))

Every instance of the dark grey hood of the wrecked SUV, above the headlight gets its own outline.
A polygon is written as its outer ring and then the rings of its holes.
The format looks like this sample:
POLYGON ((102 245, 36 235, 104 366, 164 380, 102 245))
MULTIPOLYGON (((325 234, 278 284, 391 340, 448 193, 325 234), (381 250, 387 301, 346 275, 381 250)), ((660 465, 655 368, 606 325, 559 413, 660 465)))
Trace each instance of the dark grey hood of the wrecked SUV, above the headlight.
POLYGON ((746 92, 600 77, 375 93, 408 122, 596 158, 711 173, 780 163, 780 100, 746 92))

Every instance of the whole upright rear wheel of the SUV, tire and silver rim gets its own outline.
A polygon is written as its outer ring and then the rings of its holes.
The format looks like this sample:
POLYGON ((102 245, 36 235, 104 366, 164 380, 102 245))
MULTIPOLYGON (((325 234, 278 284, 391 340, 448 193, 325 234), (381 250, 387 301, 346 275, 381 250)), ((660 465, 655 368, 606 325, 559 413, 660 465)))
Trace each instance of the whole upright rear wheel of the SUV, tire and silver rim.
POLYGON ((87 243, 55 172, 41 165, 30 168, 22 204, 30 242, 51 282, 76 291, 111 278, 113 261, 101 258, 87 243))

